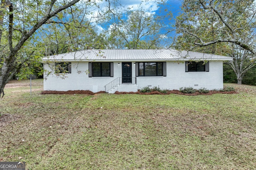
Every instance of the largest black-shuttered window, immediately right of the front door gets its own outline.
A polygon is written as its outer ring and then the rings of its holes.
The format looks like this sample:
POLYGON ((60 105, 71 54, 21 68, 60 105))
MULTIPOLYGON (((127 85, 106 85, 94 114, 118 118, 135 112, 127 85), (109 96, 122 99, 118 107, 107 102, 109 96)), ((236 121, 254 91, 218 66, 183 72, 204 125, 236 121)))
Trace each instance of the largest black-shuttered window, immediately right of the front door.
POLYGON ((136 76, 166 76, 166 62, 138 62, 136 76))

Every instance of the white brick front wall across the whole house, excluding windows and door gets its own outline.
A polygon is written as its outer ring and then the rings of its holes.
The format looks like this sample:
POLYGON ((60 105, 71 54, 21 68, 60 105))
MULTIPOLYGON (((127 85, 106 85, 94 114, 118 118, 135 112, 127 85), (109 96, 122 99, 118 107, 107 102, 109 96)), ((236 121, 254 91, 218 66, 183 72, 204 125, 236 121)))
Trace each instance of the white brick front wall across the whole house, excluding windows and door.
MULTIPOLYGON (((129 61, 131 62, 131 61, 129 61)), ((44 90, 68 91, 90 90, 105 91, 104 86, 112 80, 122 77, 122 62, 114 62, 114 77, 89 77, 88 62, 71 62, 71 73, 64 78, 55 74, 44 75, 44 90), (120 63, 120 65, 118 65, 120 63)), ((135 61, 132 61, 132 77, 135 77, 135 61)), ((54 65, 54 63, 51 63, 54 65)), ((145 86, 159 86, 161 89, 179 90, 181 87, 207 88, 208 90, 223 88, 223 62, 210 61, 209 72, 185 72, 185 62, 166 62, 166 76, 136 77, 138 89, 145 86)), ((52 71, 48 64, 44 69, 52 71)))

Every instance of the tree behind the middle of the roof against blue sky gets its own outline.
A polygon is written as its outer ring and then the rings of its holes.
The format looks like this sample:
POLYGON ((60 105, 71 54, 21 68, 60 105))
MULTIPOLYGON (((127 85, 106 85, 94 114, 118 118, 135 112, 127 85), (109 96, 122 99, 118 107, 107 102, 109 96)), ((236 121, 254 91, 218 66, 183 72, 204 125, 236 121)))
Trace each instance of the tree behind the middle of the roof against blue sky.
MULTIPOLYGON (((112 48, 126 47, 128 49, 138 49, 140 47, 154 48, 159 45, 161 23, 154 17, 154 14, 139 8, 138 10, 116 12, 110 9, 104 13, 104 18, 109 21, 108 29, 109 46, 112 48), (108 17, 106 17, 108 16, 108 17), (140 43, 143 42, 143 45, 140 43), (145 45, 147 43, 147 45, 145 45)), ((104 20, 106 21, 106 20, 104 20)))

